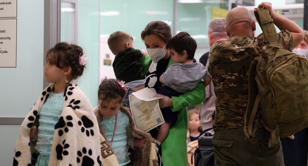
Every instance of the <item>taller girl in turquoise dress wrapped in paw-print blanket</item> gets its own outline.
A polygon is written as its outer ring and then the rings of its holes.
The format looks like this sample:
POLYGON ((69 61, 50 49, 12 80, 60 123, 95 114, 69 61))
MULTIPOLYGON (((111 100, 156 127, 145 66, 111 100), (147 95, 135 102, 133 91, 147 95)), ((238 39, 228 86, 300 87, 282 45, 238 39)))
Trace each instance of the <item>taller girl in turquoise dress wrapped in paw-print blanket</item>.
POLYGON ((48 50, 46 61, 44 79, 51 84, 21 124, 13 166, 100 166, 98 124, 73 82, 85 68, 82 48, 60 42, 48 50))

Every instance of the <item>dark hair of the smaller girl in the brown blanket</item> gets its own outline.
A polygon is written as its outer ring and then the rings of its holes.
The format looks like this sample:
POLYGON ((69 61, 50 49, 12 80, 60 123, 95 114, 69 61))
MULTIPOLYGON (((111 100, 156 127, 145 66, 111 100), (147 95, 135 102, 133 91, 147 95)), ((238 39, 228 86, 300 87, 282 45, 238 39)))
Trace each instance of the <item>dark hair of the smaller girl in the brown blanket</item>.
POLYGON ((98 88, 98 100, 109 100, 120 98, 120 102, 125 96, 125 90, 121 87, 118 80, 105 79, 98 88))

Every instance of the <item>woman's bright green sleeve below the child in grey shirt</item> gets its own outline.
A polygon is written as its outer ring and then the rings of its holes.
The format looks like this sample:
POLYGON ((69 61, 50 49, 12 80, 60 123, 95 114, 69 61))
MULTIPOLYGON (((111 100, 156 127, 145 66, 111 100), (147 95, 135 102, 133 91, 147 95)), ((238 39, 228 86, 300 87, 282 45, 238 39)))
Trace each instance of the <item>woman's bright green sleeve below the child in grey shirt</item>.
POLYGON ((172 111, 179 111, 187 106, 192 106, 195 104, 200 104, 205 98, 205 85, 202 81, 198 85, 179 97, 172 96, 172 111))

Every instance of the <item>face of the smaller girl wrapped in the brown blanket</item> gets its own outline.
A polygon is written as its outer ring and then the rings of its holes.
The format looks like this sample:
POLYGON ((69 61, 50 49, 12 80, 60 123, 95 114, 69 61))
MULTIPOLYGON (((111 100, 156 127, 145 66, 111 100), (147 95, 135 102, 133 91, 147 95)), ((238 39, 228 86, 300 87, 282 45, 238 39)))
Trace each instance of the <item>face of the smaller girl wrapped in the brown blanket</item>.
POLYGON ((117 114, 120 109, 121 101, 119 99, 108 99, 99 102, 99 110, 105 118, 111 118, 117 114))

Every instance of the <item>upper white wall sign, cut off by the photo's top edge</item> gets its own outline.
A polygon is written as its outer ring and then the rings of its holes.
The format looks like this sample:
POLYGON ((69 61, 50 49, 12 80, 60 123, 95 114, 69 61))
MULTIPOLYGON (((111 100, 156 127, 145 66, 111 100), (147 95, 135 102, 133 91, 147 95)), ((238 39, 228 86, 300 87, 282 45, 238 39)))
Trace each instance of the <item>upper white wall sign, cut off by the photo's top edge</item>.
POLYGON ((17 17, 17 0, 1 0, 0 17, 17 17))

